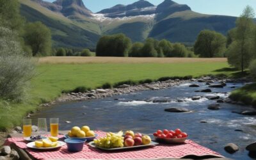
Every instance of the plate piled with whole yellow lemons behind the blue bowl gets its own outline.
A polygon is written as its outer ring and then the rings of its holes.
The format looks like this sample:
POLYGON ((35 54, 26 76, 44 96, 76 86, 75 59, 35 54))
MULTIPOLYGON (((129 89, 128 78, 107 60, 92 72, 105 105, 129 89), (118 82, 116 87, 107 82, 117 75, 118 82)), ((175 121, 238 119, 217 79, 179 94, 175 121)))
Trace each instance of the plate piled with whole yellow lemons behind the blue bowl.
POLYGON ((76 138, 86 141, 93 141, 98 135, 94 131, 90 130, 90 127, 84 125, 83 127, 72 127, 65 138, 76 138))

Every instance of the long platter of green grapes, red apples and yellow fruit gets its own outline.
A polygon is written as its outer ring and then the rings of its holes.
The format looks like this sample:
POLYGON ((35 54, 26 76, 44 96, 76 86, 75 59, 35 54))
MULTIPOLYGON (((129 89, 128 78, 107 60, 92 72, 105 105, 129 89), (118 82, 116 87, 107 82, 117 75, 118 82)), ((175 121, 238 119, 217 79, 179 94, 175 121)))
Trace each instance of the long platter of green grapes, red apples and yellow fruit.
POLYGON ((125 134, 123 131, 118 133, 108 132, 105 137, 88 143, 91 147, 109 151, 152 147, 157 144, 151 140, 150 136, 141 133, 134 134, 133 131, 126 131, 125 134))

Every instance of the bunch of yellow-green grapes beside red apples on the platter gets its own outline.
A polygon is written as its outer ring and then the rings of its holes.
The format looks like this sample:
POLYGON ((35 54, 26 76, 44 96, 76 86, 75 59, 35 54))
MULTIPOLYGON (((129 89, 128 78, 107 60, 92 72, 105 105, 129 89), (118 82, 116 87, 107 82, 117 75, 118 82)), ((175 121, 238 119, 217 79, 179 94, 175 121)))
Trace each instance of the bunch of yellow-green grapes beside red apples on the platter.
POLYGON ((94 143, 102 148, 120 148, 124 147, 124 137, 109 132, 106 137, 94 140, 94 143))

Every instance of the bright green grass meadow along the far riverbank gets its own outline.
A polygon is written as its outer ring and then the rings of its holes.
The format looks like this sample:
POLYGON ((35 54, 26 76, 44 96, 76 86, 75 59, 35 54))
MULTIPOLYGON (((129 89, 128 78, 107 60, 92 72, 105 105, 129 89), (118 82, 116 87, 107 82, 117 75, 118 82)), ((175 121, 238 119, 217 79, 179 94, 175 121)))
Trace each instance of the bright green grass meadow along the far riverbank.
MULTIPOLYGON (((51 58, 48 59, 51 60, 51 58)), ((52 59, 58 60, 58 58, 52 59)), ((104 58, 101 59, 104 60, 104 58)), ((148 61, 141 62, 143 60, 141 58, 133 59, 140 63, 125 62, 128 59, 117 58, 115 63, 113 61, 104 61, 104 63, 97 61, 90 63, 40 62, 36 68, 38 75, 31 81, 28 100, 22 103, 0 100, 0 130, 6 131, 15 125, 20 125, 22 117, 30 111, 35 111, 39 104, 51 102, 60 97, 61 92, 72 91, 77 87, 84 86, 93 89, 106 83, 113 85, 127 80, 138 82, 145 79, 156 81, 160 77, 199 77, 209 74, 232 76, 237 72, 227 69, 228 63, 225 58, 221 61, 216 61, 215 58, 205 59, 205 61, 200 58, 191 58, 191 60, 173 58, 176 60, 173 63, 170 61, 161 63, 166 60, 164 58, 157 58, 156 62, 150 61, 150 63, 148 61), (118 61, 120 62, 118 63, 118 61)))

